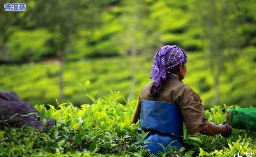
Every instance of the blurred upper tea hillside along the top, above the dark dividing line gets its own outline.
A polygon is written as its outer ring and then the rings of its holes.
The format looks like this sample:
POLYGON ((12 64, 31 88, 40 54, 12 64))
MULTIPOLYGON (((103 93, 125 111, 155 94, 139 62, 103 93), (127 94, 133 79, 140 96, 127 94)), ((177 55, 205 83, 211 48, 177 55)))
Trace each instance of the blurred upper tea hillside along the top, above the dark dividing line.
MULTIPOLYGON (((21 0, 18 2, 24 3, 21 0)), ((225 27, 222 32, 226 33, 222 36, 225 44, 255 46, 254 1, 220 0, 216 2, 216 10, 211 7, 214 2, 68 0, 64 3, 59 0, 29 0, 26 1, 25 12, 1 10, 0 32, 3 35, 0 37, 0 51, 3 55, 0 60, 7 59, 4 56, 11 53, 9 61, 31 62, 56 56, 57 51, 69 51, 66 55, 70 60, 111 57, 127 52, 132 46, 138 47, 139 54, 147 56, 148 52, 153 53, 152 50, 155 51, 163 44, 178 44, 187 51, 206 50, 207 38, 203 35, 201 26, 207 26, 206 29, 210 30, 208 33, 213 34, 221 33, 220 27, 225 27), (225 6, 228 9, 223 13, 221 8, 225 6), (200 8, 202 11, 199 11, 200 8), (51 14, 52 11, 55 12, 54 15, 51 14), (197 11, 201 14, 197 14, 197 11), (214 32, 208 22, 198 22, 200 17, 206 15, 211 15, 216 24, 214 32), (223 19, 223 15, 227 15, 227 19, 223 19), (228 25, 236 19, 240 20, 237 25, 228 25), (237 33, 233 33, 233 27, 238 27, 237 33), (42 29, 48 32, 42 33, 42 29), (237 34, 241 34, 240 38, 234 37, 237 34), (234 42, 237 39, 242 42, 234 42), (65 43, 68 45, 65 46, 65 43)), ((1 6, 4 3, 6 2, 1 1, 1 6)))

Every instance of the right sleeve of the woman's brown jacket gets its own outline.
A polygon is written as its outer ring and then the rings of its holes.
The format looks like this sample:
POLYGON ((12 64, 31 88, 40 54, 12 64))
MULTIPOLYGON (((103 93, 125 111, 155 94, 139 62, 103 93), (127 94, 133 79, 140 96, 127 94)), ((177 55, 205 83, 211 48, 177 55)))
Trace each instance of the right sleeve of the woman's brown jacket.
POLYGON ((201 98, 187 85, 180 99, 180 109, 190 135, 194 135, 207 127, 208 120, 205 117, 201 98))

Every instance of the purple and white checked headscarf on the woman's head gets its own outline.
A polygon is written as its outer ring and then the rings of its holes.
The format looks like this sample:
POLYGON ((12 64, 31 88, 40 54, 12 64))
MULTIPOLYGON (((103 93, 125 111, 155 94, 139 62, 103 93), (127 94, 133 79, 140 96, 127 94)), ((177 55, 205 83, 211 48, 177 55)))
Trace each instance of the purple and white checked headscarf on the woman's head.
POLYGON ((162 81, 166 80, 166 72, 181 63, 187 62, 186 52, 176 45, 161 47, 153 60, 151 79, 154 79, 154 88, 158 88, 162 81))

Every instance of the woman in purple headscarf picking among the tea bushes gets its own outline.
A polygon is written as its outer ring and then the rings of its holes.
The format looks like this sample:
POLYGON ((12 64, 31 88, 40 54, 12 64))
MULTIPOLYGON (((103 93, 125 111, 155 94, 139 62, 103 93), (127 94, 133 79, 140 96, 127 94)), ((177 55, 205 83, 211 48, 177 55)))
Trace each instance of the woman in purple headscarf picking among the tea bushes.
MULTIPOLYGON (((151 138, 153 142, 151 141, 151 144, 147 145, 151 153, 157 154, 159 150, 157 142, 165 143, 163 145, 166 146, 166 142, 161 136, 169 135, 171 138, 174 132, 176 135, 183 135, 182 121, 187 125, 190 135, 199 132, 204 135, 221 134, 223 137, 229 137, 232 133, 232 128, 226 123, 223 125, 209 123, 204 116, 205 110, 200 97, 187 84, 183 84, 182 80, 187 71, 187 60, 187 54, 182 48, 176 45, 161 47, 154 57, 150 75, 154 81, 147 84, 139 95, 132 123, 135 124, 140 119, 141 128, 150 131, 149 136, 152 136, 152 132, 157 136, 151 138), (152 106, 154 106, 154 110, 152 110, 152 106), (167 113, 176 116, 168 117, 168 114, 160 116, 161 112, 166 111, 164 111, 164 107, 159 106, 168 106, 170 109, 167 113), (155 109, 156 107, 159 108, 155 109), (176 108, 179 111, 174 111, 176 108), (182 121, 180 122, 179 119, 182 121), (152 126, 153 124, 154 126, 152 126)), ((180 143, 183 142, 183 138, 176 137, 174 139, 178 139, 180 143)), ((174 139, 169 139, 168 142, 172 142, 174 139)), ((174 145, 180 147, 180 143, 174 145)))

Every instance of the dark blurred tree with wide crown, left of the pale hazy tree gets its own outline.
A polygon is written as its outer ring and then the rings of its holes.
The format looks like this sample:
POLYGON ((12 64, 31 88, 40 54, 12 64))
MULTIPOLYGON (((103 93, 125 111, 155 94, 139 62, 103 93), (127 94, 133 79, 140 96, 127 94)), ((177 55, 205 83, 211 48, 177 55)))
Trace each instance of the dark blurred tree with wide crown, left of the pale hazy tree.
POLYGON ((51 47, 59 60, 59 100, 64 99, 64 59, 71 50, 72 38, 80 29, 95 26, 101 8, 94 0, 37 0, 31 18, 37 27, 52 33, 51 47))

